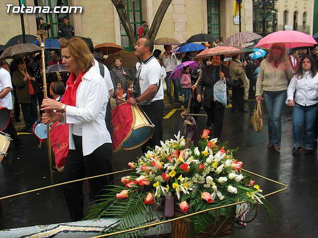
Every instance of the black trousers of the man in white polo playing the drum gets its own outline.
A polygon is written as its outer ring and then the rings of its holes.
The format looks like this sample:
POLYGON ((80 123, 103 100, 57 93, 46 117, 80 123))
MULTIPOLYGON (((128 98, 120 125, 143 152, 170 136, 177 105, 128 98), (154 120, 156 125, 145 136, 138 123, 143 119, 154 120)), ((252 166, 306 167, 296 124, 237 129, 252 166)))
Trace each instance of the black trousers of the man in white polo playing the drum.
POLYGON ((154 135, 148 140, 145 144, 141 146, 143 153, 147 153, 147 147, 150 146, 154 148, 156 145, 160 145, 160 140, 162 140, 163 130, 162 130, 162 121, 163 121, 163 110, 164 102, 163 100, 158 100, 150 105, 142 106, 142 109, 148 116, 148 118, 155 124, 154 135))

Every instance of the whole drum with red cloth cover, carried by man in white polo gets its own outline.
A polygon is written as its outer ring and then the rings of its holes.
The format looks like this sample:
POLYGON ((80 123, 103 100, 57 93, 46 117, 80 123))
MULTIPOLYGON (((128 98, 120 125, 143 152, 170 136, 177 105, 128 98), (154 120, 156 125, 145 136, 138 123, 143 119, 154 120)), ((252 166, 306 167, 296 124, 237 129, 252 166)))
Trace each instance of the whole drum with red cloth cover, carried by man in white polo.
POLYGON ((154 134, 154 125, 138 107, 129 103, 111 111, 111 139, 113 151, 135 149, 145 144, 154 134))

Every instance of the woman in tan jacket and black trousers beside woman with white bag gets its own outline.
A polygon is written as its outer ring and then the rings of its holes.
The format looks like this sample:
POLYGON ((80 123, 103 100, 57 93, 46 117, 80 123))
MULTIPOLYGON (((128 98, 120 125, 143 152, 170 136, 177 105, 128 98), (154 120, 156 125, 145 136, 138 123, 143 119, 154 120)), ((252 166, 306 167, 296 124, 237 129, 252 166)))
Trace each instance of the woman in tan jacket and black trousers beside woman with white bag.
POLYGON ((245 74, 246 60, 239 61, 240 56, 233 56, 230 64, 231 76, 234 81, 232 87, 232 112, 239 113, 248 111, 244 108, 244 86, 247 85, 247 77, 245 74))

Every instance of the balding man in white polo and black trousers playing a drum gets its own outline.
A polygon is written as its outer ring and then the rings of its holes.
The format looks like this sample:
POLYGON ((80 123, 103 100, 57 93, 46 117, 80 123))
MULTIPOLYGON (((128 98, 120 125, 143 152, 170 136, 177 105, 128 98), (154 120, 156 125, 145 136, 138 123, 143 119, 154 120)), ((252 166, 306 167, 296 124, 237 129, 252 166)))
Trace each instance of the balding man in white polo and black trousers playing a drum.
POLYGON ((139 95, 130 97, 127 102, 133 105, 141 104, 149 119, 156 125, 154 135, 141 146, 143 153, 147 152, 147 146, 154 148, 160 145, 162 140, 162 120, 163 120, 163 87, 160 83, 161 66, 153 56, 154 43, 149 38, 140 38, 135 47, 135 55, 142 61, 137 71, 137 82, 135 90, 139 95))

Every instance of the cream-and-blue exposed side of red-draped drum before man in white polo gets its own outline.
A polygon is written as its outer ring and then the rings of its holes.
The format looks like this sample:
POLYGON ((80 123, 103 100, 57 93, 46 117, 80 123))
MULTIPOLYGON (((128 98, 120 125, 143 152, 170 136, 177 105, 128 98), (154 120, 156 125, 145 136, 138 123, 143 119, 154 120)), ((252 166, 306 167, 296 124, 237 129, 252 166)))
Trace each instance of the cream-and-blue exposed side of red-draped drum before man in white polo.
POLYGON ((135 149, 145 144, 154 134, 153 123, 149 120, 144 111, 140 108, 133 106, 132 113, 134 115, 134 123, 132 125, 131 136, 123 143, 124 150, 135 149))

